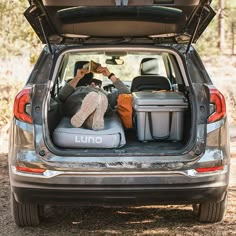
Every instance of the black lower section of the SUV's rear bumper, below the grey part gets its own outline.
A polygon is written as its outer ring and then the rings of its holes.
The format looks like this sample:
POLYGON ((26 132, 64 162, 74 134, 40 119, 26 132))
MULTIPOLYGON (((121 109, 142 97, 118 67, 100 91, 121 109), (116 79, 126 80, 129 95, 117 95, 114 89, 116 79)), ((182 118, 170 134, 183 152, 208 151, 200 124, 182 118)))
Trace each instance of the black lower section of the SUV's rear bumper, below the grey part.
POLYGON ((227 186, 160 189, 35 189, 13 187, 18 202, 39 204, 78 204, 78 205, 155 205, 155 204, 193 204, 209 200, 221 200, 227 186))

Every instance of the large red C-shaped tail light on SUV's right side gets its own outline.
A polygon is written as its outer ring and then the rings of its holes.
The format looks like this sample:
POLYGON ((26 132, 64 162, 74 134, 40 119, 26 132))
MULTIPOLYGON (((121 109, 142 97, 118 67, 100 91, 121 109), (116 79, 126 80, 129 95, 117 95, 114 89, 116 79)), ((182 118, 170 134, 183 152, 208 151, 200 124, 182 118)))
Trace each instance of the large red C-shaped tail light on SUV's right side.
POLYGON ((214 107, 213 113, 208 117, 208 123, 222 119, 226 115, 226 103, 223 94, 217 89, 210 89, 211 107, 214 107))

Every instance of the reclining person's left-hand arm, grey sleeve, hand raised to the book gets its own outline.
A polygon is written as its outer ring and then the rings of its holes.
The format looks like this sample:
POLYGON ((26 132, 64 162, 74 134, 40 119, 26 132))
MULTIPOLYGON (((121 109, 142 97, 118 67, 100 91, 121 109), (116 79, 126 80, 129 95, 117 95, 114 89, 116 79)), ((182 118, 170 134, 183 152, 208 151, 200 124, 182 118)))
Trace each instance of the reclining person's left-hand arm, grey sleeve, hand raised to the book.
POLYGON ((65 86, 60 90, 58 98, 61 102, 65 102, 66 99, 75 91, 77 83, 84 77, 87 73, 87 69, 78 69, 76 76, 65 84, 65 86))

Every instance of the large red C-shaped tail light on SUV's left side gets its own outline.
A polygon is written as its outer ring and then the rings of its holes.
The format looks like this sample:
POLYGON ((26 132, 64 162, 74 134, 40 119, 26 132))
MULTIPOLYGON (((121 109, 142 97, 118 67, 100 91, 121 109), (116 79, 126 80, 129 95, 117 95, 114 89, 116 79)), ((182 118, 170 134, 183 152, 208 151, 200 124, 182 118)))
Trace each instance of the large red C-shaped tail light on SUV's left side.
POLYGON ((20 91, 14 101, 14 116, 27 123, 32 123, 32 117, 27 113, 27 105, 30 105, 31 88, 25 88, 20 91))

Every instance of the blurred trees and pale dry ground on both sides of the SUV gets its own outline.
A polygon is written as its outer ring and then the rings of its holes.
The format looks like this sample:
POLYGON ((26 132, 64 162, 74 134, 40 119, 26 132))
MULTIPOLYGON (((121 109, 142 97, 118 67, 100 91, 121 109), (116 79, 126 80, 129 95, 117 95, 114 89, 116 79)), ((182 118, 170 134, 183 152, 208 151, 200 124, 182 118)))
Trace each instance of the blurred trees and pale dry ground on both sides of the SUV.
MULTIPOLYGON (((24 18, 27 6, 27 0, 0 2, 0 128, 8 124, 14 97, 43 47, 24 18)), ((212 6, 217 15, 195 47, 212 80, 226 96, 233 123, 236 120, 236 79, 233 78, 236 74, 236 1, 213 0, 212 6)))

